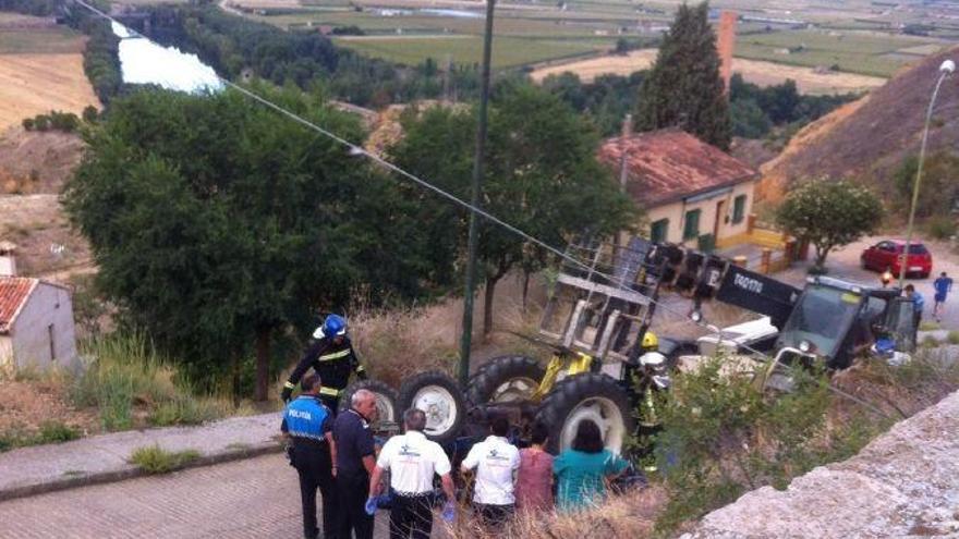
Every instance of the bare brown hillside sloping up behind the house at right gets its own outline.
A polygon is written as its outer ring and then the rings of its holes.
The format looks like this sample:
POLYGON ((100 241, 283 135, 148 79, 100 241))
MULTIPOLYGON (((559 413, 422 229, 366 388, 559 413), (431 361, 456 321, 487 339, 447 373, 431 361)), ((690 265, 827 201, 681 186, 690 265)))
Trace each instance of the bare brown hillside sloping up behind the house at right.
MULTIPOLYGON (((919 152, 925 112, 938 66, 959 47, 933 54, 899 73, 867 97, 806 126, 782 154, 762 168, 761 196, 776 199, 797 179, 828 174, 869 179, 889 192, 893 172, 903 157, 919 152)), ((959 75, 947 79, 936 101, 928 150, 959 142, 959 75)))

